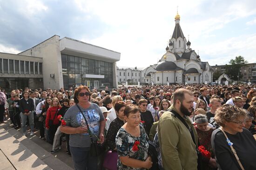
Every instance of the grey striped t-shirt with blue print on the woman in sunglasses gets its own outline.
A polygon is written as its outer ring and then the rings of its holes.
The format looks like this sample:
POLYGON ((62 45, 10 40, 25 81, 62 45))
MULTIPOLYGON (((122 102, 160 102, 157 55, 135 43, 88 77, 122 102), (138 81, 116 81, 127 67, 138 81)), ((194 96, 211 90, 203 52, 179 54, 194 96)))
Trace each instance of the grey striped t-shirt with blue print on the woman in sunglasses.
MULTIPOLYGON (((86 122, 83 117, 84 115, 88 121, 90 131, 98 137, 100 131, 100 121, 105 120, 100 107, 95 103, 91 103, 90 107, 88 108, 82 108, 81 106, 79 107, 83 113, 80 112, 77 106, 67 109, 67 112, 63 118, 67 123, 66 126, 86 127, 86 122)), ((94 138, 94 140, 96 139, 94 138)), ((89 133, 70 134, 69 145, 72 147, 90 147, 91 139, 89 133)))

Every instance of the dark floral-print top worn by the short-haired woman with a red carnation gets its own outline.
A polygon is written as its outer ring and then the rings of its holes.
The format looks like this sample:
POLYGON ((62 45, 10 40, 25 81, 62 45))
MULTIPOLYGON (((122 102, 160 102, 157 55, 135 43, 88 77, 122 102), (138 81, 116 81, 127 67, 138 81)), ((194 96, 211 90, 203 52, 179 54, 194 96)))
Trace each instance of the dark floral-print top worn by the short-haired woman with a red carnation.
MULTIPOLYGON (((126 157, 134 158, 137 160, 145 161, 148 157, 148 135, 145 132, 143 126, 140 124, 141 134, 138 137, 134 137, 128 132, 126 132, 125 128, 121 127, 117 132, 115 143, 117 148, 118 157, 126 157), (139 145, 136 148, 136 144, 139 145)), ((146 170, 145 168, 132 168, 126 165, 123 165, 118 158, 117 161, 118 170, 146 170)))

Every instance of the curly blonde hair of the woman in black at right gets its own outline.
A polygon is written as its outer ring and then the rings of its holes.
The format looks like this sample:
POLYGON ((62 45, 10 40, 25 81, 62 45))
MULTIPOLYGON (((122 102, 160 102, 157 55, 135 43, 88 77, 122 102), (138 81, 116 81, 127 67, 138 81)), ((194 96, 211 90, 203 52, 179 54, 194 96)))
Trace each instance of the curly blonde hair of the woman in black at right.
POLYGON ((239 108, 231 105, 223 105, 219 107, 214 116, 214 120, 217 124, 224 127, 225 122, 230 122, 236 120, 238 117, 246 117, 247 112, 243 108, 239 108))

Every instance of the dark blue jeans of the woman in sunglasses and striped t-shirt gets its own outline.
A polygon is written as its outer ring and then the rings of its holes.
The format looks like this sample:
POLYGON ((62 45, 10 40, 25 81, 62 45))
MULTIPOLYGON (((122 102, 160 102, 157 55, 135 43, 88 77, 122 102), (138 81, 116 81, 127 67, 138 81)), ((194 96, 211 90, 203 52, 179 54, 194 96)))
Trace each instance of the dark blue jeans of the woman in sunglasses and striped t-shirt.
POLYGON ((97 170, 97 157, 90 156, 90 147, 69 146, 75 170, 97 170))

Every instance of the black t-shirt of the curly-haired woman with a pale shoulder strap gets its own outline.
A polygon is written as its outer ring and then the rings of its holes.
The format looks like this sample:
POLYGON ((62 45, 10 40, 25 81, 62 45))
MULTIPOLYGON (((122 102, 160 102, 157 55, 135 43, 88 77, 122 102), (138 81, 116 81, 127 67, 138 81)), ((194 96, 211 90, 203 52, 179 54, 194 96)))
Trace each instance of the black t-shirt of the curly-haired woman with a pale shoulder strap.
MULTIPOLYGON (((243 128, 243 132, 235 135, 226 132, 230 142, 236 150, 245 170, 256 170, 256 140, 251 132, 243 128)), ((241 170, 235 155, 227 143, 227 139, 220 129, 216 129, 211 137, 212 149, 215 153, 219 170, 241 170)))

